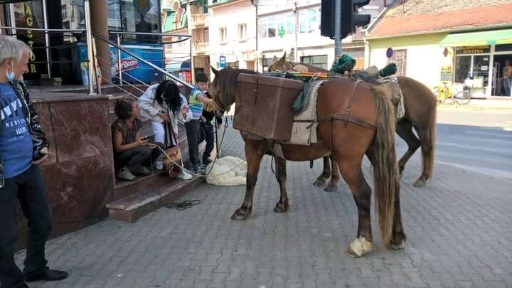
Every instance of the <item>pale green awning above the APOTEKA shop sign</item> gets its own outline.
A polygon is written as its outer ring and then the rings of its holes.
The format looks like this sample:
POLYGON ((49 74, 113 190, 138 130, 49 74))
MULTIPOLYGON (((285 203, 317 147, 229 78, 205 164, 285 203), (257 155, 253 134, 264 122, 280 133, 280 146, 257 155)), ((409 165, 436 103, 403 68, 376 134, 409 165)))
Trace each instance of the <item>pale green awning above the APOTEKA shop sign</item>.
POLYGON ((482 46, 512 43, 512 29, 449 34, 439 44, 452 46, 482 46))

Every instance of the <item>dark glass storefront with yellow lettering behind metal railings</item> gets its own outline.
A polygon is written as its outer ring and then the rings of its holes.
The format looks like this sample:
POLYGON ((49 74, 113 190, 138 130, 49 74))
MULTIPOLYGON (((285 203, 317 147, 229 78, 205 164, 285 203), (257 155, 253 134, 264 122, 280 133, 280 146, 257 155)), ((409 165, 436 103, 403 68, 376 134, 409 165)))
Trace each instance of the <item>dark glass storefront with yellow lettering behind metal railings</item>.
MULTIPOLYGON (((116 39, 116 31, 161 32, 160 0, 105 0, 110 39, 116 39)), ((0 1, 1 2, 1 1, 0 1)), ((1 26, 26 29, 85 29, 84 0, 29 0, 9 1, 0 4, 1 26)), ((91 16, 92 21, 95 15, 91 16)), ((86 60, 81 47, 85 45, 85 33, 69 31, 44 33, 36 30, 2 29, 1 33, 16 35, 33 49, 26 80, 41 82, 46 78, 60 78, 63 84, 80 84, 80 66, 86 60)), ((122 35, 123 45, 142 46, 143 58, 147 50, 161 43, 160 36, 122 35), (145 49, 145 50, 144 50, 145 49)), ((151 48, 151 49, 150 49, 151 48)), ((139 49, 139 50, 141 50, 139 49)), ((134 50, 137 50, 135 48, 134 50)), ((163 50, 156 51, 159 66, 163 66, 163 50)), ((123 60, 131 60, 124 59, 123 60)), ((107 61, 105 59, 105 61, 107 61)), ((132 61, 133 62, 133 61, 132 61)), ((153 61, 151 61, 153 62, 153 61)), ((156 63, 155 63, 156 64, 156 63)), ((147 69, 139 65, 138 68, 147 69)), ((149 73, 151 74, 151 73, 149 73)), ((151 79, 142 79, 149 81, 151 79)))

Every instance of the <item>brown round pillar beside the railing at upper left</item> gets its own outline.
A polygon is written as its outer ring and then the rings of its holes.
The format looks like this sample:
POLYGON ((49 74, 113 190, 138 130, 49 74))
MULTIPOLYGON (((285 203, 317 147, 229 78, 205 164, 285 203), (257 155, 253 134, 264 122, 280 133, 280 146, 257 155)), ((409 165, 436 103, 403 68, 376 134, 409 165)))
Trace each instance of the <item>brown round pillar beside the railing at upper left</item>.
MULTIPOLYGON (((107 1, 90 1, 90 14, 92 33, 99 34, 108 39, 107 1)), ((96 54, 98 57, 97 63, 101 68, 102 78, 112 81, 110 75, 111 59, 109 44, 100 39, 96 39, 96 54)))

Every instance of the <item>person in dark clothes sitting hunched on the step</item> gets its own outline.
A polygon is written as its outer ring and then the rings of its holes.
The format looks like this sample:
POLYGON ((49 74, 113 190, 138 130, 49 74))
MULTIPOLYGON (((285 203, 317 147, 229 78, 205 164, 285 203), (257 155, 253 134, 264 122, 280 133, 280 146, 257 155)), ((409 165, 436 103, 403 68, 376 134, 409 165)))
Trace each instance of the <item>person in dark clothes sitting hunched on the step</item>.
POLYGON ((122 166, 119 178, 134 181, 136 175, 149 175, 151 163, 161 154, 155 144, 140 136, 142 121, 137 118, 140 108, 137 102, 117 100, 114 107, 117 120, 112 124, 114 160, 122 166))

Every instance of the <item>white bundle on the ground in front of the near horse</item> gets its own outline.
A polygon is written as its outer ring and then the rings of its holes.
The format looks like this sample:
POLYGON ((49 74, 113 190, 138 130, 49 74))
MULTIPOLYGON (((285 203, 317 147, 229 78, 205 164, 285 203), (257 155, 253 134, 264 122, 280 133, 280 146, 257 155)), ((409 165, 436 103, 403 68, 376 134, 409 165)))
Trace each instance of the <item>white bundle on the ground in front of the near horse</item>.
POLYGON ((207 183, 217 186, 245 185, 247 161, 234 156, 225 156, 206 166, 206 172, 209 172, 206 176, 207 183))

